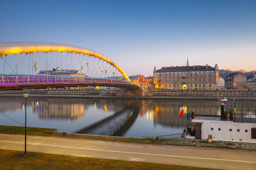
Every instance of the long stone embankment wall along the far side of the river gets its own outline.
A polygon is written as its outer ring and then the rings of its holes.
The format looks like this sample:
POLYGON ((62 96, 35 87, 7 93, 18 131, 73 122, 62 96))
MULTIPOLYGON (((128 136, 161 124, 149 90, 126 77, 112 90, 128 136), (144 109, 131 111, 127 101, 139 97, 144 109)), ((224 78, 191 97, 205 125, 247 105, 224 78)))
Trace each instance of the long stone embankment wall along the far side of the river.
MULTIPOLYGON (((32 95, 88 95, 88 96, 125 96, 125 97, 256 97, 256 90, 165 90, 159 88, 144 88, 129 90, 42 90, 27 89, 32 95)), ((0 91, 0 94, 23 94, 23 91, 0 91)))

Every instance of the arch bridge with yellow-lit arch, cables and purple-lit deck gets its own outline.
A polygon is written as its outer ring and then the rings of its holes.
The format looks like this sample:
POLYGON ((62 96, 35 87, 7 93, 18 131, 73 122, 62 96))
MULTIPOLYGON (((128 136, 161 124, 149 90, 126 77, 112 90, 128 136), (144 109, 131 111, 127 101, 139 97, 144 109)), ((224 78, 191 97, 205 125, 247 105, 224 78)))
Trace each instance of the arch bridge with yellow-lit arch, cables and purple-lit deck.
POLYGON ((83 86, 139 88, 117 63, 93 50, 46 42, 0 43, 0 90, 83 86))

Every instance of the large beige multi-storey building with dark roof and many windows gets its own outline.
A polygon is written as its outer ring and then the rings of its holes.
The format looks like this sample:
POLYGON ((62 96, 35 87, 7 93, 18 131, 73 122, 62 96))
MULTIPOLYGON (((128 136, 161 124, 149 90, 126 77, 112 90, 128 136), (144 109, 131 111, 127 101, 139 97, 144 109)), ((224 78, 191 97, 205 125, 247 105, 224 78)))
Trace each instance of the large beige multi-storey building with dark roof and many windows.
POLYGON ((217 89, 218 66, 176 66, 154 69, 155 88, 180 89, 217 89))

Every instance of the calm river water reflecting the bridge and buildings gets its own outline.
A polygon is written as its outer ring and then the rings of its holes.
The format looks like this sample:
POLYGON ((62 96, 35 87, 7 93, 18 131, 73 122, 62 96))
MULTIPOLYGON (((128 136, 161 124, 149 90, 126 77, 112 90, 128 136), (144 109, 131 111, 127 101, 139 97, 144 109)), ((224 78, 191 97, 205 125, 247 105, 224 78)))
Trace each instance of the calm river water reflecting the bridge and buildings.
MULTIPOLYGON (((256 105, 256 101, 249 100, 236 103, 238 109, 240 105, 243 109, 255 109, 256 105)), ((225 108, 232 109, 233 105, 232 100, 227 101, 225 108)), ((56 128, 67 133, 156 137, 181 133, 181 128, 191 123, 185 115, 179 117, 180 107, 196 114, 220 115, 218 100, 28 97, 27 126, 56 128)), ((1 97, 0 111, 6 114, 0 112, 0 125, 24 125, 24 97, 1 97)))

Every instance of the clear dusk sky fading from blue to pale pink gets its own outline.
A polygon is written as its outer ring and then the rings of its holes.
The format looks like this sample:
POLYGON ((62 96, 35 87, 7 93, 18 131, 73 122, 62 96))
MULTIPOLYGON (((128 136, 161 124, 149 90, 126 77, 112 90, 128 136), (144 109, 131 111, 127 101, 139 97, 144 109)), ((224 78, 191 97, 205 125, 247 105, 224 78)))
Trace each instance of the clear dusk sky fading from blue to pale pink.
POLYGON ((0 42, 94 50, 127 75, 154 67, 256 70, 256 1, 0 0, 0 42))

